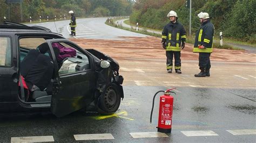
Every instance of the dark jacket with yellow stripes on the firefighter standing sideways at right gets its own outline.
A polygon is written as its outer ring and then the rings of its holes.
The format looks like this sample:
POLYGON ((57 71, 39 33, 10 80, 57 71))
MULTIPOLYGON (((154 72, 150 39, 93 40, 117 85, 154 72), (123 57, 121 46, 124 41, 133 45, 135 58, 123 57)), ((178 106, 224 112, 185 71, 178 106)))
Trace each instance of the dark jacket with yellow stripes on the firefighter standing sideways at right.
POLYGON ((194 41, 194 53, 212 53, 213 47, 213 36, 214 36, 214 25, 211 20, 207 20, 202 23, 199 30, 196 33, 196 38, 194 41), (198 46, 205 46, 204 49, 199 49, 198 46))

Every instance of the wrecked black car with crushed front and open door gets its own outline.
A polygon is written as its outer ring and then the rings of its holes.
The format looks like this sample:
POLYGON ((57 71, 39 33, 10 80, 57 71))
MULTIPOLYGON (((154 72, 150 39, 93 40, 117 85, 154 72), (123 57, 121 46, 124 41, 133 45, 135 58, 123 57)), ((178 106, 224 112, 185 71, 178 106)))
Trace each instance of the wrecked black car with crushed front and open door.
POLYGON ((41 26, 0 25, 0 112, 116 112, 124 98, 118 62, 41 26))

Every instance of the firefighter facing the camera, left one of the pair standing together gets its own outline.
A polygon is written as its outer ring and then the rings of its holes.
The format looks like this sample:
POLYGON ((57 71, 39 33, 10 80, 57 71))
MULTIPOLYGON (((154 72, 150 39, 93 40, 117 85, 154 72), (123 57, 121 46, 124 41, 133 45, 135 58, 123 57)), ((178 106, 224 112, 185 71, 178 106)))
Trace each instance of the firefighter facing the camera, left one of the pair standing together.
POLYGON ((163 48, 166 49, 166 69, 167 73, 172 73, 172 59, 174 55, 174 69, 176 73, 181 74, 180 51, 185 47, 186 31, 177 19, 177 13, 170 11, 167 15, 170 18, 170 23, 164 26, 162 32, 163 48))

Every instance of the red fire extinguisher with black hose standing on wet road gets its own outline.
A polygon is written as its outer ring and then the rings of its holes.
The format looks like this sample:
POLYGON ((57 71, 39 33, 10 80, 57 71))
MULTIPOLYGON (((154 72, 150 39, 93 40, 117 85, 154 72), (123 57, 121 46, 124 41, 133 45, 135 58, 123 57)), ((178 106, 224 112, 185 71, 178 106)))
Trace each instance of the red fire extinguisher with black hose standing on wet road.
POLYGON ((161 133, 171 133, 172 131, 172 110, 173 110, 173 97, 170 95, 170 92, 176 88, 168 89, 166 91, 160 90, 157 91, 153 97, 152 110, 150 115, 150 124, 152 123, 152 113, 154 109, 154 98, 159 92, 164 92, 164 95, 160 96, 159 103, 159 115, 158 115, 158 126, 157 131, 161 133))

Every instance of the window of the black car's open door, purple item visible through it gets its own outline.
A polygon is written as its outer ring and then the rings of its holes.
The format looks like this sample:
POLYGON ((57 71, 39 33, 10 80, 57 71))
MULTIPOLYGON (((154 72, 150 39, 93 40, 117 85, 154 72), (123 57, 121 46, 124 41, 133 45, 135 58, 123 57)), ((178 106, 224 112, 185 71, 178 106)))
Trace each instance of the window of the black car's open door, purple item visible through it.
POLYGON ((59 75, 90 69, 89 59, 75 47, 65 42, 53 42, 53 51, 59 67, 59 75))

